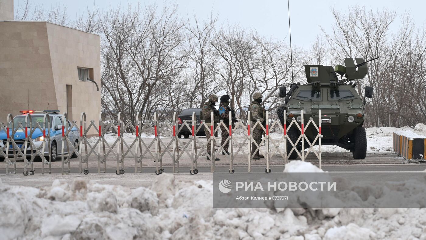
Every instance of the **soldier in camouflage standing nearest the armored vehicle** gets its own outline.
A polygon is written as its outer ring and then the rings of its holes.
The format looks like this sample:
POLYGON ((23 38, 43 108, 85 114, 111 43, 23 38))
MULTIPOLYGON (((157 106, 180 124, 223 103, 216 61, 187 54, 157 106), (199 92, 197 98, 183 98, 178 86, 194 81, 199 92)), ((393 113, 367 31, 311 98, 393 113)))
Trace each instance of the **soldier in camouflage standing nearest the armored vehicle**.
MULTIPOLYGON (((248 108, 248 111, 250 111, 250 126, 252 127, 252 136, 259 148, 264 130, 262 129, 262 126, 260 124, 257 124, 255 128, 253 127, 256 124, 256 120, 258 119, 263 126, 265 126, 266 124, 265 109, 260 105, 260 103, 262 103, 262 94, 256 92, 253 94, 253 101, 251 101, 250 106, 248 108)), ((259 154, 259 149, 254 143, 251 144, 251 155, 253 156, 253 159, 264 158, 261 154, 259 154)))

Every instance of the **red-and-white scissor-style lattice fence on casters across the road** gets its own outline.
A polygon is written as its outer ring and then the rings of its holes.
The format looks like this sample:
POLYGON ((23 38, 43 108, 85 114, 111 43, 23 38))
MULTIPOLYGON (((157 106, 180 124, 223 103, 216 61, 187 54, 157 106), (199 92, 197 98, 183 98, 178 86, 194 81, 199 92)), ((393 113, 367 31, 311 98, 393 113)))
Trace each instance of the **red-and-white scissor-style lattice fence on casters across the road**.
MULTIPOLYGON (((266 111, 265 121, 262 123, 259 119, 249 122, 247 125, 241 121, 233 123, 232 116, 228 123, 220 120, 215 123, 213 112, 210 114, 210 120, 199 120, 197 114, 193 112, 190 120, 183 120, 178 123, 178 115, 173 114, 172 121, 162 122, 158 118, 157 112, 153 114, 153 120, 141 120, 142 112, 136 114, 135 123, 125 121, 121 112, 118 113, 115 124, 112 120, 105 120, 102 113, 99 114, 98 125, 94 120, 89 123, 86 119, 86 113, 81 113, 80 125, 76 121, 69 124, 66 113, 63 113, 64 124, 61 131, 61 169, 62 174, 69 174, 71 171, 71 162, 73 156, 76 157, 79 164, 80 174, 89 174, 89 161, 96 161, 98 165, 98 173, 107 171, 107 159, 113 158, 116 161, 116 174, 124 174, 125 166, 130 165, 129 159, 134 160, 135 173, 142 172, 144 161, 155 161, 155 174, 164 172, 164 159, 171 159, 173 173, 179 172, 179 161, 184 157, 190 160, 190 174, 197 174, 197 161, 201 156, 210 159, 210 172, 215 171, 216 154, 225 155, 225 159, 229 160, 230 173, 235 172, 234 159, 242 156, 247 159, 248 172, 252 169, 253 157, 259 151, 265 161, 265 172, 271 172, 270 160, 278 156, 279 159, 287 160, 293 152, 301 160, 313 152, 320 161, 321 168, 321 111, 318 111, 318 119, 312 117, 305 124, 304 113, 300 111, 301 121, 295 118, 288 119, 284 111, 284 124, 278 119, 270 119, 269 113, 266 111), (317 121, 318 120, 318 121, 317 121), (253 137, 253 130, 259 129, 263 135, 260 143, 257 143, 253 137), (306 129, 316 129, 318 134, 314 139, 310 139, 305 135, 306 129), (190 131, 190 138, 180 139, 179 132, 182 130, 190 131), (222 143, 219 135, 219 129, 222 134, 228 136, 222 143), (270 134, 270 129, 278 129, 280 133, 270 134), (299 134, 296 138, 288 135, 290 129, 296 129, 299 134), (210 135, 205 138, 199 136, 201 131, 210 135), (93 137, 93 133, 96 137, 93 137), (134 133, 135 137, 124 137, 123 133, 134 133), (88 134, 92 133, 91 136, 88 134), (113 133, 115 139, 105 137, 107 133, 113 133), (72 140, 71 134, 78 134, 75 140, 72 140), (149 137, 153 134, 153 137, 149 137), (166 137, 167 136, 167 137, 166 137), (171 136, 171 137, 170 137, 171 136), (278 137, 278 138, 277 138, 278 137), (130 138, 130 140, 129 140, 130 138), (216 142, 216 143, 215 143, 216 142), (209 144, 210 143, 210 144, 209 144), (213 144, 215 143, 215 144, 213 144), (228 151, 225 145, 229 144, 228 151), (210 148, 207 146, 210 145, 210 148), (262 147, 264 145, 264 147, 262 147), (319 149, 315 150, 314 146, 319 145, 319 149), (288 146, 288 147, 287 147, 288 146), (306 147, 305 147, 306 146, 306 147), (217 151, 216 151, 217 147, 217 151), (254 149, 252 149, 254 147, 254 149), (306 150, 306 151, 305 151, 306 150)), ((250 112, 248 112, 250 116, 250 112)), ((26 115, 25 126, 22 123, 14 123, 12 114, 7 117, 7 124, 0 123, 0 131, 7 133, 7 139, 1 147, 0 157, 6 160, 6 173, 16 174, 17 160, 23 159, 24 174, 34 174, 34 159, 40 157, 42 159, 42 174, 45 173, 44 166, 49 166, 51 173, 51 127, 49 115, 43 118, 43 123, 33 123, 30 114, 26 115), (15 126, 16 125, 16 126, 15 126), (43 143, 36 145, 32 134, 40 130, 43 132, 43 143), (22 144, 17 143, 14 135, 17 132, 25 132, 25 140, 22 144), (9 172, 9 167, 13 168, 9 172), (30 169, 27 171, 27 169, 30 169)), ((223 159, 223 158, 222 158, 223 159)), ((257 158, 256 158, 257 159, 257 158)), ((132 161, 132 160, 131 160, 132 161)), ((167 163, 169 164, 169 163, 167 163)))

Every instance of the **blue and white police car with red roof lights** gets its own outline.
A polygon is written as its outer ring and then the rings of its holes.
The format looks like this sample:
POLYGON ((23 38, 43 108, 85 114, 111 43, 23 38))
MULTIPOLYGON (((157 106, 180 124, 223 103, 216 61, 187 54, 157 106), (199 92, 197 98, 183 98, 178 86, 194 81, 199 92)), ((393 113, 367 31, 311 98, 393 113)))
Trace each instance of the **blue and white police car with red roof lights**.
MULTIPOLYGON (((18 123, 20 122, 21 125, 23 126, 23 128, 25 128, 27 126, 26 124, 26 114, 31 114, 32 117, 32 126, 33 128, 35 128, 36 123, 39 123, 39 125, 41 126, 42 129, 44 129, 44 123, 43 123, 43 118, 45 114, 48 114, 49 118, 50 118, 50 149, 51 149, 51 153, 49 156, 49 149, 47 148, 47 146, 44 149, 44 156, 45 157, 50 157, 52 159, 52 162, 54 162, 56 160, 56 158, 58 156, 60 156, 61 154, 67 154, 66 152, 66 146, 64 146, 64 152, 62 153, 62 126, 66 126, 66 124, 63 123, 63 116, 62 114, 59 114, 59 110, 44 110, 44 111, 32 111, 32 110, 26 110, 26 111, 20 111, 22 114, 15 116, 13 118, 13 127, 14 129, 12 130, 12 123, 9 122, 9 135, 11 137, 13 137, 14 142, 16 143, 17 147, 19 147, 21 149, 21 151, 24 153, 23 148, 25 147, 25 131, 24 129, 18 128, 18 123), (17 130, 16 130, 17 129, 17 130), (16 130, 16 132, 14 132, 16 130), (13 136, 12 136, 12 132, 14 132, 13 136)), ((28 124, 28 128, 29 128, 30 124, 28 124)), ((71 122, 68 120, 68 128, 69 126, 71 126, 71 122)), ((6 127, 6 126, 5 126, 6 127)), ((30 134, 30 132, 32 131, 32 129, 28 129, 28 134, 30 134)), ((67 129, 64 129, 64 132, 66 134, 67 129)), ((47 136, 47 131, 46 131, 46 136, 47 136)), ((70 133, 68 134, 68 138, 70 140, 70 142, 74 143, 74 147, 75 149, 78 149, 79 147, 79 142, 78 142, 78 130, 77 128, 74 126, 71 130, 70 133)), ((32 138, 32 140, 35 142, 35 146, 37 148, 40 149, 41 151, 41 147, 43 144, 43 131, 41 131, 40 129, 36 128, 34 130, 34 132, 32 133, 31 136, 29 136, 32 138)), ((3 129, 0 131, 0 149, 6 154, 6 145, 7 144, 7 133, 6 131, 4 131, 3 129)), ((66 144, 66 143, 65 143, 66 144)), ((70 146, 70 151, 72 151, 71 146, 70 146)), ((12 143, 9 142, 9 157, 13 157, 13 146, 12 143)), ((15 149, 16 152, 17 149, 15 149)), ((35 150, 33 149, 33 151, 35 152, 35 150)), ((25 154, 25 153, 24 153, 25 154)), ((26 149, 26 155, 27 157, 31 156, 31 147, 30 147, 30 143, 27 143, 27 149, 26 149)), ((72 155, 72 158, 77 157, 76 154, 72 155)), ((0 161, 4 161, 4 157, 1 156, 0 154, 0 161)))

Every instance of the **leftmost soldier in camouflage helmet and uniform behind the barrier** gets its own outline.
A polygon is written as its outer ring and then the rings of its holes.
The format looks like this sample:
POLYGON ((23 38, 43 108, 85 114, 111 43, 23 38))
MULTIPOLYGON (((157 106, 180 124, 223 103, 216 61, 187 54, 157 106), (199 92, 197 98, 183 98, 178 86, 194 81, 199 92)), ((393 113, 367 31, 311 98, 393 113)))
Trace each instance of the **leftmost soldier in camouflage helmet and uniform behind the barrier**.
MULTIPOLYGON (((211 152, 211 141, 209 140, 210 138, 210 126, 211 124, 214 124, 214 129, 216 129, 217 123, 219 123, 221 117, 219 114, 219 111, 217 111, 217 109, 215 108, 216 103, 218 102, 218 97, 215 94, 211 94, 209 96, 209 99, 207 102, 204 103, 203 107, 202 107, 202 119, 205 121, 206 125, 208 126, 208 128, 206 128, 206 126, 204 126, 204 132, 206 133, 206 138, 207 138, 207 151, 209 152, 209 154, 207 154, 207 160, 210 160, 210 154, 212 154, 211 152), (213 121, 214 123, 211 122, 211 112, 213 111, 213 121)), ((215 140, 213 137, 213 152, 214 152, 214 146, 215 146, 215 140)), ((219 158, 215 158, 215 161, 219 161, 219 158)))

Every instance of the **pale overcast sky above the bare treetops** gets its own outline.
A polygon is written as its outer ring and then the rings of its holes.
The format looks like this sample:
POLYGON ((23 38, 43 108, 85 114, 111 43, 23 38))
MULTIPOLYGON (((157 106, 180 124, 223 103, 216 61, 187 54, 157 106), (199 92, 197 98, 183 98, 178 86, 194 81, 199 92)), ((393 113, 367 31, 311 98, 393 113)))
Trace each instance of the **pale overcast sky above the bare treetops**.
MULTIPOLYGON (((31 1, 31 0, 30 0, 31 1)), ((43 3, 45 7, 61 2, 60 0, 32 0, 32 3, 43 3)), ((78 12, 83 12, 86 5, 92 6, 93 2, 100 9, 109 5, 127 5, 127 0, 64 0, 68 8, 68 14, 72 18, 78 12)), ((130 0, 130 3, 138 1, 130 0)), ((140 0, 140 3, 153 1, 140 0)), ((162 4, 164 1, 156 1, 162 4)), ((170 2, 170 1, 169 1, 170 2)), ((219 22, 239 23, 244 28, 255 28, 260 34, 279 39, 289 40, 288 34, 288 10, 286 0, 178 0, 179 11, 186 16, 194 12, 199 17, 207 17, 210 12, 219 14, 219 22)), ((23 0, 14 0, 15 11, 23 0)), ((330 29, 333 23, 330 8, 345 10, 351 5, 360 4, 372 9, 397 9, 399 14, 410 11, 414 23, 417 25, 426 23, 426 1, 414 0, 290 0, 291 17, 291 41, 292 44, 309 48, 316 36, 321 34, 319 26, 330 29)), ((391 26, 397 30, 399 18, 391 26)))

